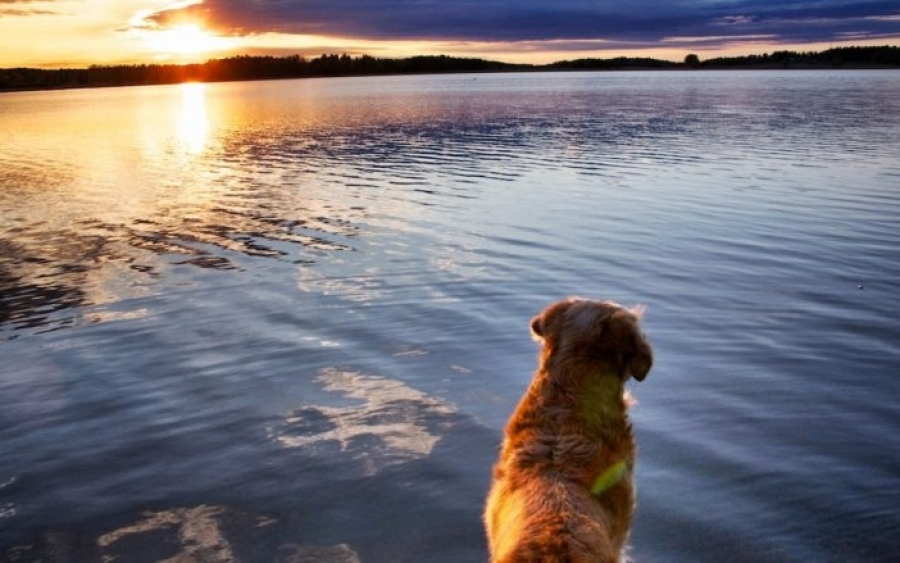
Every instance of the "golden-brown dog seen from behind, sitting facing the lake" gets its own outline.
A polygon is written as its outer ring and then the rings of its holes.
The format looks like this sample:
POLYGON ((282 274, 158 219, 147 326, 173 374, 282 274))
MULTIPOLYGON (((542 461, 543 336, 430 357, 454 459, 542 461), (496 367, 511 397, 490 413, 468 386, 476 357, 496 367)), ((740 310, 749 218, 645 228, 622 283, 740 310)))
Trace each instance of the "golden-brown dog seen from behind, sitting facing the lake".
POLYGON ((491 561, 619 561, 634 513, 624 394, 653 363, 640 309, 567 299, 531 321, 538 370, 506 426, 484 520, 491 561))

